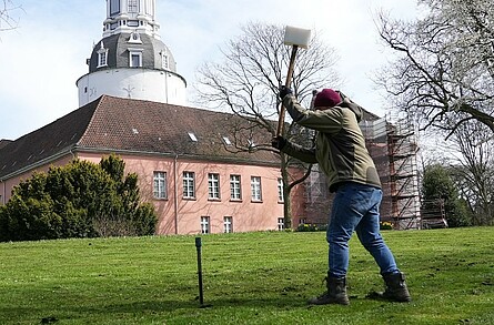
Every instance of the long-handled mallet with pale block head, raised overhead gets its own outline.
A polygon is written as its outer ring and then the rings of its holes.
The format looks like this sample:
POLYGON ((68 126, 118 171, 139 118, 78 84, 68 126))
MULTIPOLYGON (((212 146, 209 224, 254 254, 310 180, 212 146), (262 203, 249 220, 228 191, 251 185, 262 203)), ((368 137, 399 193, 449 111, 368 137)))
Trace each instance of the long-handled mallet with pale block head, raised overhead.
MULTIPOLYGON (((286 73, 286 80, 285 80, 285 87, 288 87, 288 88, 290 88, 290 85, 292 84, 293 68, 295 65, 296 50, 299 48, 308 49, 310 39, 311 39, 311 30, 294 28, 291 26, 285 27, 284 44, 292 45, 292 54, 290 55, 289 72, 286 73)), ((280 118, 278 120, 276 136, 282 135, 282 133, 283 133, 284 111, 285 111, 285 109, 282 103, 281 108, 280 108, 280 118)))

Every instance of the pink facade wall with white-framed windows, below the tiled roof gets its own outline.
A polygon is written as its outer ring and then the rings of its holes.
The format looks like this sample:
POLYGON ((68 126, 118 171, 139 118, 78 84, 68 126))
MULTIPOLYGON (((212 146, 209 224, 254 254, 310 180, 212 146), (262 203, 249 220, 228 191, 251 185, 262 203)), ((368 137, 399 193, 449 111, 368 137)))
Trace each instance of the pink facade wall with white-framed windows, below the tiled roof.
MULTIPOLYGON (((81 155, 99 162, 101 155, 81 155)), ((153 202, 158 234, 275 231, 283 220, 280 167, 177 158, 121 156, 153 202)))

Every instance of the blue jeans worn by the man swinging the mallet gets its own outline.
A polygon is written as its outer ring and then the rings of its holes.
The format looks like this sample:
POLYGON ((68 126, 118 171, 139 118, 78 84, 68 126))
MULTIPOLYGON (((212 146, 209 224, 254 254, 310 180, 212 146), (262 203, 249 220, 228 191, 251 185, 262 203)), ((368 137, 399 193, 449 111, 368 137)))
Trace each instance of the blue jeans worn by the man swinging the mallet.
POLYGON ((379 207, 382 197, 381 190, 357 183, 344 183, 337 189, 326 232, 330 245, 329 276, 346 276, 349 241, 354 231, 362 245, 374 257, 381 274, 400 272, 393 253, 380 233, 379 207))

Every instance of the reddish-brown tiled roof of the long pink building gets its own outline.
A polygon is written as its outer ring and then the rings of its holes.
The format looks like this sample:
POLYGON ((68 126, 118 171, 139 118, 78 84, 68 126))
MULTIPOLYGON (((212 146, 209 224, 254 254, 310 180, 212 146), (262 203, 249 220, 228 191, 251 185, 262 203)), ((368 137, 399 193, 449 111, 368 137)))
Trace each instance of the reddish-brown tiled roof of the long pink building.
MULTIPOLYGON (((170 155, 195 159, 278 163, 269 151, 235 153, 223 136, 234 140, 239 116, 208 110, 103 95, 57 121, 0 148, 0 177, 50 158, 83 150, 170 155), (188 135, 192 132, 198 141, 188 135), (231 149, 228 150, 228 149, 231 149)), ((255 144, 269 145, 271 134, 253 128, 255 144)), ((246 138, 240 139, 246 143, 246 138)))

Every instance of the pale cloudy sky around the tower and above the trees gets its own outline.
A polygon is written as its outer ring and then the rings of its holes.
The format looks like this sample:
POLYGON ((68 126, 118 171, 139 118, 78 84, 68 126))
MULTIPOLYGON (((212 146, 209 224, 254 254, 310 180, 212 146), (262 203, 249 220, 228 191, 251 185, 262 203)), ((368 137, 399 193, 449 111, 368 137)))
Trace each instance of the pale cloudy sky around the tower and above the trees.
MULTIPOLYGON (((0 139, 16 140, 79 108, 75 81, 88 72, 85 59, 102 37, 107 11, 105 0, 11 1, 22 10, 10 12, 20 19, 18 28, 0 32, 0 139)), ((196 68, 219 60, 219 48, 240 35, 242 24, 289 24, 322 32, 340 57, 341 90, 377 115, 385 111, 371 79, 390 51, 379 42, 375 14, 416 13, 416 0, 157 0, 157 6, 161 39, 188 91, 196 68)))

